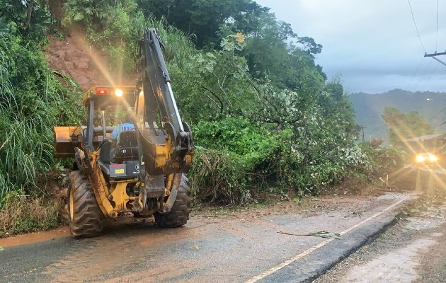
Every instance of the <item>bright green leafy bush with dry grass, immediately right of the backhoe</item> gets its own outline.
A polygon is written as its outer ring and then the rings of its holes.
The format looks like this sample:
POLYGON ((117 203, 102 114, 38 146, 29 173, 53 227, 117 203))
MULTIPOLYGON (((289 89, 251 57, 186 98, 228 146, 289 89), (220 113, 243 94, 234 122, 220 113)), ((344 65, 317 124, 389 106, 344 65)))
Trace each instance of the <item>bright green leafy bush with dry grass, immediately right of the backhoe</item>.
POLYGON ((241 204, 261 191, 290 189, 290 159, 299 158, 290 154, 290 131, 227 118, 199 122, 193 133, 197 151, 190 176, 195 201, 241 204))

